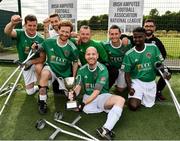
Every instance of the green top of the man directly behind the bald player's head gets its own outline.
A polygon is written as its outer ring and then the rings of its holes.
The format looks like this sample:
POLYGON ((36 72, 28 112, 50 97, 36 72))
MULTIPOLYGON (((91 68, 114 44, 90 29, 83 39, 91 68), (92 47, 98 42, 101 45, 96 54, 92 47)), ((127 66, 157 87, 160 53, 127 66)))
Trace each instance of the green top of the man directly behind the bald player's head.
POLYGON ((105 63, 108 61, 108 56, 103 46, 97 41, 90 40, 88 43, 81 43, 80 45, 77 45, 77 48, 79 50, 79 59, 82 65, 85 65, 87 63, 85 59, 85 53, 88 47, 95 47, 97 49, 97 52, 99 54, 99 62, 105 63))

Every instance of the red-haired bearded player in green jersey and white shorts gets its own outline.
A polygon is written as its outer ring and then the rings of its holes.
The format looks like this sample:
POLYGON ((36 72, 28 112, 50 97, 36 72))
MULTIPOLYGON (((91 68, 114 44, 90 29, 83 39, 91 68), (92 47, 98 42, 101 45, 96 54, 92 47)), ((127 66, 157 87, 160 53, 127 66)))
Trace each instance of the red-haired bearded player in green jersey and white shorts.
POLYGON ((58 38, 48 38, 42 43, 47 60, 39 82, 39 112, 41 114, 47 112, 48 81, 60 81, 58 79, 60 77, 62 79, 60 89, 64 90, 63 78, 75 77, 78 68, 78 50, 69 40, 73 30, 72 23, 70 21, 62 21, 58 27, 58 38))

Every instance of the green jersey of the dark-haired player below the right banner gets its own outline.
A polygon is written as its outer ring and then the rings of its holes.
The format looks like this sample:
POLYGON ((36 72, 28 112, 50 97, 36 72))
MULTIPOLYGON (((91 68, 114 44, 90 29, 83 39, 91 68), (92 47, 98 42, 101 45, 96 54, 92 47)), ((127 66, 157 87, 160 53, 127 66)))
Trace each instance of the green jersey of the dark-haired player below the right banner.
POLYGON ((121 44, 119 47, 115 47, 112 45, 111 40, 103 42, 102 44, 108 54, 108 64, 117 69, 121 67, 125 53, 132 48, 131 44, 128 44, 127 46, 121 44))

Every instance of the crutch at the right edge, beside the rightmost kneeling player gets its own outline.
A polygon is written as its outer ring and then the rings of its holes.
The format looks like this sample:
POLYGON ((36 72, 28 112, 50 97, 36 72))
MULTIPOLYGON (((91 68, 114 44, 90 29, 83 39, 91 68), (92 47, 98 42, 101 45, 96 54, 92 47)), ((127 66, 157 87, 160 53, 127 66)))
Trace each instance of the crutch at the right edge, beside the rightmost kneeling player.
POLYGON ((177 98, 176 98, 176 96, 175 96, 175 94, 174 94, 174 92, 173 92, 173 90, 172 90, 172 88, 171 88, 171 85, 169 84, 169 81, 168 81, 166 78, 164 78, 164 75, 163 75, 163 73, 162 73, 162 71, 161 71, 161 69, 164 69, 164 66, 163 66, 163 64, 161 64, 161 63, 156 63, 155 66, 156 66, 158 72, 159 72, 159 73, 161 74, 161 76, 163 77, 163 79, 164 79, 164 81, 165 81, 165 83, 166 83, 166 85, 167 85, 167 87, 168 87, 168 89, 169 89, 169 91, 170 91, 170 95, 171 95, 172 100, 173 100, 173 102, 174 102, 174 105, 175 105, 175 107, 176 107, 176 111, 177 111, 177 113, 178 113, 178 116, 180 117, 180 105, 179 105, 179 102, 178 102, 178 100, 177 100, 177 98))

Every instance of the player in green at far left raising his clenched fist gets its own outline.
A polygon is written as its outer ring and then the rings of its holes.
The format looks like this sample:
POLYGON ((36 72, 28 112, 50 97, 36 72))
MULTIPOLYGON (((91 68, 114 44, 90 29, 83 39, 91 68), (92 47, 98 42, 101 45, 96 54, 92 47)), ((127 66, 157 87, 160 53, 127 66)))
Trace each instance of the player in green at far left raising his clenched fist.
MULTIPOLYGON (((22 19, 19 15, 13 15, 11 21, 4 29, 7 35, 17 40, 17 51, 20 62, 23 62, 27 58, 31 50, 31 45, 34 42, 41 43, 44 40, 43 36, 37 32, 36 16, 27 15, 24 20, 24 29, 15 29, 15 26, 22 22, 22 19)), ((45 54, 40 52, 40 54, 29 60, 25 65, 27 67, 23 71, 23 76, 28 95, 32 95, 38 90, 38 86, 34 86, 34 84, 39 79, 44 61, 45 54)))

